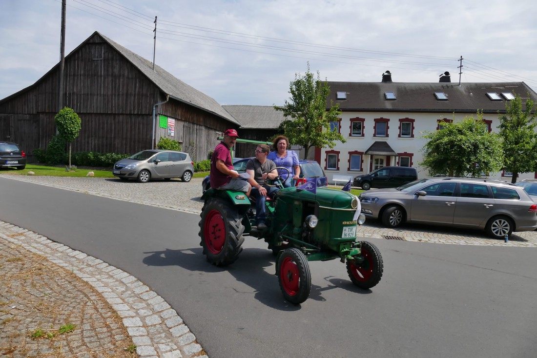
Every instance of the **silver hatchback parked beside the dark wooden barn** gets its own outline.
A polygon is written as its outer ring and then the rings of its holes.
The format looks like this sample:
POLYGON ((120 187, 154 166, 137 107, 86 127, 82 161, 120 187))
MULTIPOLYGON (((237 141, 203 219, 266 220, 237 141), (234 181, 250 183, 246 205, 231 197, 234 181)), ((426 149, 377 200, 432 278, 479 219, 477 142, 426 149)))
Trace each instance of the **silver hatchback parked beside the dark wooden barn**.
POLYGON ((121 159, 114 164, 112 170, 112 174, 119 179, 136 179, 139 182, 171 178, 190 181, 193 173, 194 163, 188 153, 159 149, 142 150, 121 159))

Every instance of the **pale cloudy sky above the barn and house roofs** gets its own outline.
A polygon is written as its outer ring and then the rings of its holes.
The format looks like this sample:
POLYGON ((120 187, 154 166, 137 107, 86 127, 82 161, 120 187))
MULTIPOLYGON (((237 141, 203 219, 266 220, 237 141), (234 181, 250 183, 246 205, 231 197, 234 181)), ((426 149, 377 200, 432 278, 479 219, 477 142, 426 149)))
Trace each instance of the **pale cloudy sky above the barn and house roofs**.
MULTIPOLYGON (((525 82, 535 91, 532 5, 67 0, 65 51, 98 31, 149 61, 155 54, 157 65, 221 105, 283 105, 308 63, 328 81, 380 82, 389 70, 394 82, 438 82, 448 71, 455 83, 525 82)), ((0 0, 0 99, 60 61, 61 7, 61 0, 0 0)))

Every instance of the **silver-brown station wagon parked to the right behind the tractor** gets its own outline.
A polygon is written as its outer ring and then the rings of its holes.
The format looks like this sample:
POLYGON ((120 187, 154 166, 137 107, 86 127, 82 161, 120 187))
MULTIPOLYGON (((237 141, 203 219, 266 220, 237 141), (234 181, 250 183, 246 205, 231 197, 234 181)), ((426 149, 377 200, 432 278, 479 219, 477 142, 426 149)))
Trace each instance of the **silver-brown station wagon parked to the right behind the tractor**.
POLYGON ((359 196, 362 213, 390 228, 404 222, 486 230, 495 238, 537 228, 537 205, 499 180, 435 177, 359 196))

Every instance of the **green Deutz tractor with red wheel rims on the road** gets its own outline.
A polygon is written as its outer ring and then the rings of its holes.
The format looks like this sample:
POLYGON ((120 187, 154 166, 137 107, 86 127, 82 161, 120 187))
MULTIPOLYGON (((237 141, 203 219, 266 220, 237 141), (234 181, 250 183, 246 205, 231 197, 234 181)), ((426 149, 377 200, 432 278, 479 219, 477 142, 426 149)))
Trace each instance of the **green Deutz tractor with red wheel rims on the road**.
POLYGON ((199 236, 207 261, 216 266, 233 264, 245 236, 264 239, 277 255, 281 292, 293 304, 306 301, 310 294, 308 261, 346 262, 351 281, 362 289, 380 282, 384 265, 379 249, 356 240, 357 225, 365 221, 357 196, 328 188, 316 188, 313 193, 274 182, 280 190, 275 198, 267 198, 266 230, 255 227, 253 199, 244 193, 211 188, 201 196, 205 204, 199 236))

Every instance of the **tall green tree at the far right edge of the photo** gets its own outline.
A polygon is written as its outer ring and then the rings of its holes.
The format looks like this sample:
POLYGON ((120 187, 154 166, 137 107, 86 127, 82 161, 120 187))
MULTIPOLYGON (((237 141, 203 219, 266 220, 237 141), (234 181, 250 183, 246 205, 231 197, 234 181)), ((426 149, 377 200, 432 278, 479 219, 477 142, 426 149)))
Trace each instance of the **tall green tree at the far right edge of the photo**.
POLYGON ((499 135, 503 139, 505 170, 513 173, 511 182, 516 182, 519 173, 534 171, 537 160, 537 135, 535 134, 534 103, 526 100, 522 109, 522 99, 518 94, 505 104, 506 113, 498 116, 499 135), (532 113, 533 112, 533 113, 532 113))

